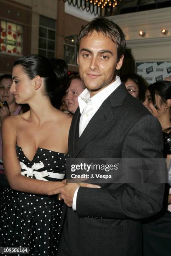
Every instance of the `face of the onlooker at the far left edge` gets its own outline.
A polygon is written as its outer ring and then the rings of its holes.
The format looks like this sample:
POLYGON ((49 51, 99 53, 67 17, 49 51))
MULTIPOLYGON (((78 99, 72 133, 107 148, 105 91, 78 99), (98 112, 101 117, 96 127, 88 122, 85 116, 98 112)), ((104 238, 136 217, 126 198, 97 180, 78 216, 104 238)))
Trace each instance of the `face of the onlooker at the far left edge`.
POLYGON ((7 101, 8 105, 15 102, 13 93, 10 92, 13 80, 10 78, 3 78, 0 81, 0 101, 7 101))

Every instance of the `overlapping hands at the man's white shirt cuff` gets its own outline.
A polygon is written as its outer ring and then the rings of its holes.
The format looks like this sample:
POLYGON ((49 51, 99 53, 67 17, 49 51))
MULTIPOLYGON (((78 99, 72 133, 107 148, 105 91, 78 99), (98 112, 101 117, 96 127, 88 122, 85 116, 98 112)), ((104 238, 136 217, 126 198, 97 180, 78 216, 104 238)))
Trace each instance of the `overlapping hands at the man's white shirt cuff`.
POLYGON ((48 195, 59 194, 59 200, 63 199, 66 205, 72 207, 74 193, 77 187, 89 187, 89 188, 100 188, 98 185, 89 184, 89 183, 68 183, 66 180, 63 181, 64 186, 58 187, 48 192, 48 195))

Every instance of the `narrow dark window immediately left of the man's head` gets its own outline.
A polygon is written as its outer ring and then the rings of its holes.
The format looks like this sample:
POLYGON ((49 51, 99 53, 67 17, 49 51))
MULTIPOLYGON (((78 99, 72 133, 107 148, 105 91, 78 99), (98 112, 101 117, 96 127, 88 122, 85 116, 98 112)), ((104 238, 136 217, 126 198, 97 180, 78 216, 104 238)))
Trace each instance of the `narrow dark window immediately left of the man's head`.
POLYGON ((64 38, 64 60, 69 65, 77 65, 77 35, 64 38))

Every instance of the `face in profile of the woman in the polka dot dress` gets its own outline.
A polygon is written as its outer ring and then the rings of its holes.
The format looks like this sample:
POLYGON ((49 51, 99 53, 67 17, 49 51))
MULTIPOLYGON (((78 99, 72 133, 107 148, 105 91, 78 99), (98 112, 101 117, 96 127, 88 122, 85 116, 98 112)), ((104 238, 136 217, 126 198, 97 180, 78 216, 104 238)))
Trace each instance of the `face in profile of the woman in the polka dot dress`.
POLYGON ((13 67, 12 78, 10 92, 13 93, 15 102, 18 104, 28 103, 28 100, 33 98, 33 80, 28 78, 21 66, 13 67))

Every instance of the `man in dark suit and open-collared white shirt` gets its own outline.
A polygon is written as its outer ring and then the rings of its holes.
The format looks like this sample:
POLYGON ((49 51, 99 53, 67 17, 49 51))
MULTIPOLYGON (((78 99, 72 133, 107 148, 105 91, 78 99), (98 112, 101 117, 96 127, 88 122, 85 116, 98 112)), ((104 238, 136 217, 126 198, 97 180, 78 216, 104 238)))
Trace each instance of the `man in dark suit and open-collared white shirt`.
MULTIPOLYGON (((79 34, 77 61, 87 89, 79 96, 69 133, 72 159, 163 157, 160 124, 116 76, 124 52, 123 31, 105 18, 79 34)), ((83 186, 65 184, 49 193, 68 205, 57 255, 141 256, 140 220, 161 210, 164 185, 83 186)))

